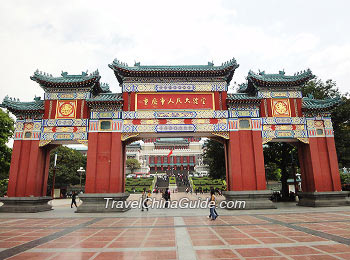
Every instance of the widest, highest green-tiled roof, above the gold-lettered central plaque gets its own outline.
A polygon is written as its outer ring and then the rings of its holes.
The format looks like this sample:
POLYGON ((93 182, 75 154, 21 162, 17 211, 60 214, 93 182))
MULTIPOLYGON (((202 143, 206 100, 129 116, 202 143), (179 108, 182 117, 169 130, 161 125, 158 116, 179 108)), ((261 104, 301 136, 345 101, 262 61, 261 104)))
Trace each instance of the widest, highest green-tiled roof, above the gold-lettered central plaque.
POLYGON ((125 77, 222 77, 229 83, 239 65, 232 59, 220 66, 214 66, 212 62, 208 62, 208 65, 181 66, 150 66, 138 62, 131 67, 115 59, 108 66, 114 70, 119 83, 123 83, 125 77))

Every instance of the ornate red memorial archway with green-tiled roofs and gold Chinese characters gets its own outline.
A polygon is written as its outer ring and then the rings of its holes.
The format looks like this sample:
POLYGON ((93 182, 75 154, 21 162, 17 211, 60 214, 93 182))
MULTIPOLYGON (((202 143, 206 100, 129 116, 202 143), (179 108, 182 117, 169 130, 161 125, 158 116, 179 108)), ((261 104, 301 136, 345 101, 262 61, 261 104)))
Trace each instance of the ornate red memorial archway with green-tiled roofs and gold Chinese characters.
MULTIPOLYGON (((8 196, 2 211, 47 209, 47 145, 76 141, 88 145, 86 193, 78 212, 104 212, 106 196, 125 200, 125 145, 143 136, 218 136, 225 140, 226 200, 245 200, 247 208, 273 208, 266 190, 263 143, 299 140, 304 176, 300 205, 345 205, 341 192, 329 111, 340 99, 302 97, 310 70, 287 76, 248 73, 238 93, 228 85, 238 64, 214 66, 109 67, 122 93, 111 93, 100 75, 31 77, 45 91, 44 100, 5 98, 3 107, 17 116, 8 196), (321 131, 322 134, 321 134, 321 131), (31 151, 31 152, 29 152, 31 151), (23 189, 25 190, 23 192, 23 189), (35 205, 35 209, 33 209, 35 205)), ((126 209, 124 209, 126 210, 126 209)))

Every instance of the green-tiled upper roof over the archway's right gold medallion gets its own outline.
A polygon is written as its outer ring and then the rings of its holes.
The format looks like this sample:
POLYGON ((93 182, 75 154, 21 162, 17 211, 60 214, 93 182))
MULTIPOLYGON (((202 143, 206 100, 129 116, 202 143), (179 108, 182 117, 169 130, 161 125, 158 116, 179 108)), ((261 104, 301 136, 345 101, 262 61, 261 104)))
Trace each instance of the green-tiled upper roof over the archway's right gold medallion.
POLYGON ((310 69, 295 73, 294 75, 285 75, 284 71, 279 71, 278 74, 266 74, 265 71, 255 73, 250 70, 247 76, 247 83, 241 84, 238 92, 256 92, 264 88, 301 88, 307 81, 314 77, 310 69))

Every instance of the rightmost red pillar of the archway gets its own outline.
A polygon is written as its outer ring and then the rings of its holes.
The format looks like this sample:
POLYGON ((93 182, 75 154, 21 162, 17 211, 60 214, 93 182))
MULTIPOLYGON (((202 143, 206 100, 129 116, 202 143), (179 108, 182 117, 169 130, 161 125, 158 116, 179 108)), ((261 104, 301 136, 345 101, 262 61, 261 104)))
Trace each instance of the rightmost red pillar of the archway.
POLYGON ((309 144, 299 144, 298 153, 303 192, 341 191, 333 137, 309 138, 309 144))

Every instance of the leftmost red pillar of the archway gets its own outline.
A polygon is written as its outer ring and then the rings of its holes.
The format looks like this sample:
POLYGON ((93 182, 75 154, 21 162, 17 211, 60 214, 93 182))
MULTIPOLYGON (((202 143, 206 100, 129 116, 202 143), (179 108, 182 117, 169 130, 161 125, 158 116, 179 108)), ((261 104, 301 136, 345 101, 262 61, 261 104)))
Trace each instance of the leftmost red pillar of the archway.
POLYGON ((46 196, 50 147, 39 147, 39 140, 15 140, 7 195, 46 196))

